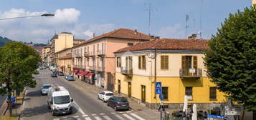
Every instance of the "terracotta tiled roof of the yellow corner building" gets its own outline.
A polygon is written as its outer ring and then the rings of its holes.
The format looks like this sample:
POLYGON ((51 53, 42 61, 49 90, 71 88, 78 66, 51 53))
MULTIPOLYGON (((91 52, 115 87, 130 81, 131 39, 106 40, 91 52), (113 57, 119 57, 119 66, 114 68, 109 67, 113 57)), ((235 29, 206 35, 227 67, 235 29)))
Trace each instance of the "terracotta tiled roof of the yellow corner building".
POLYGON ((208 41, 209 40, 206 39, 156 39, 119 49, 118 51, 115 51, 115 53, 148 49, 201 51, 208 49, 208 41))

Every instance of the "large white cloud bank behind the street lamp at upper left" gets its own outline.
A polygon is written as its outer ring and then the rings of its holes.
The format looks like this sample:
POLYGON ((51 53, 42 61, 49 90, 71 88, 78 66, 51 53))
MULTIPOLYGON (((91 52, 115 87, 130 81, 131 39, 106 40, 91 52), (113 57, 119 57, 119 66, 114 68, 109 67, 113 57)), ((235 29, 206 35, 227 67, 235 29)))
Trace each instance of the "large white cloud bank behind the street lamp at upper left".
MULTIPOLYGON (((34 16, 47 11, 26 11, 25 9, 10 9, 0 12, 0 19, 34 16)), ((80 17, 77 9, 57 9, 53 17, 33 17, 25 19, 9 19, 0 21, 0 36, 6 36, 15 41, 33 41, 47 43, 55 30, 74 29, 80 17)), ((78 26, 78 25, 77 25, 78 26)))

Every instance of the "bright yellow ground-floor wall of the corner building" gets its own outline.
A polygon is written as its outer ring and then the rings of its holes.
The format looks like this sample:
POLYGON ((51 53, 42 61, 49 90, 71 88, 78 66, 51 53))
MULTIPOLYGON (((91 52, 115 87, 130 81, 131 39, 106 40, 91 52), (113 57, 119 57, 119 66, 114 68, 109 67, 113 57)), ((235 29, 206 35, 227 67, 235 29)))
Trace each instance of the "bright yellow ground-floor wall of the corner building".
MULTIPOLYGON (((120 80, 120 92, 128 94, 128 81, 125 76, 115 73, 115 91, 118 91, 118 80, 120 80)), ((131 80, 131 96, 141 99, 141 85, 146 86, 146 102, 160 102, 158 95, 154 99, 153 77, 133 75, 131 80)), ((210 79, 203 77, 201 79, 182 79, 179 77, 157 77, 156 81, 161 81, 162 86, 169 87, 169 100, 163 103, 184 103, 185 86, 193 86, 193 100, 189 103, 222 103, 225 101, 224 94, 217 91, 217 101, 209 100, 209 86, 214 86, 210 79)))

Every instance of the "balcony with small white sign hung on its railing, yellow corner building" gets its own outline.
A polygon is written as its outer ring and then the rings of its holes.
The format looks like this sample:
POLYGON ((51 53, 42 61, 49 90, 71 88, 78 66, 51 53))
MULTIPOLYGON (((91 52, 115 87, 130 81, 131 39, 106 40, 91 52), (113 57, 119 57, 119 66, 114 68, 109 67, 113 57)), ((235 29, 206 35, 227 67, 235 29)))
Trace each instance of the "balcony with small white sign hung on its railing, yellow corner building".
POLYGON ((202 69, 179 69, 181 78, 199 78, 202 77, 202 69))

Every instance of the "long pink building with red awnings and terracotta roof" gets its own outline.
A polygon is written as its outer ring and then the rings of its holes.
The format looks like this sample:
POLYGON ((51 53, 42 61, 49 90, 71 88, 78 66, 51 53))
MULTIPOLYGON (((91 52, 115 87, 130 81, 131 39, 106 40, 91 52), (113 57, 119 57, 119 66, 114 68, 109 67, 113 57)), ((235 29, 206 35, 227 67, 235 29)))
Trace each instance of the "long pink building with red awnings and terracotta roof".
POLYGON ((150 36, 137 30, 117 29, 95 36, 72 47, 72 71, 75 78, 113 91, 115 54, 118 49, 148 41, 150 36))

